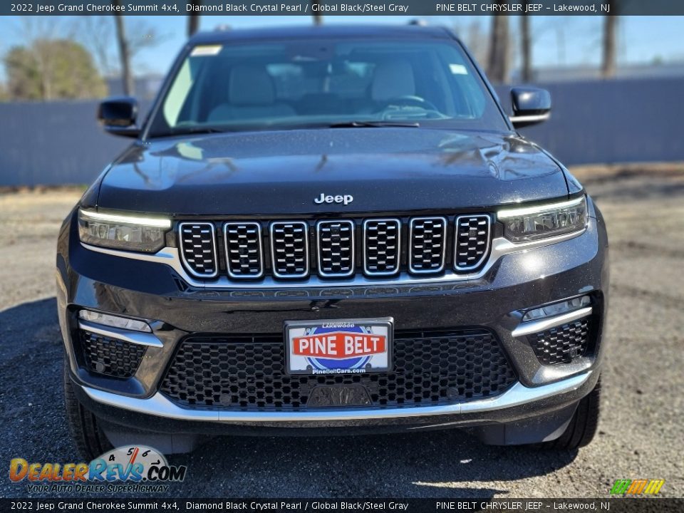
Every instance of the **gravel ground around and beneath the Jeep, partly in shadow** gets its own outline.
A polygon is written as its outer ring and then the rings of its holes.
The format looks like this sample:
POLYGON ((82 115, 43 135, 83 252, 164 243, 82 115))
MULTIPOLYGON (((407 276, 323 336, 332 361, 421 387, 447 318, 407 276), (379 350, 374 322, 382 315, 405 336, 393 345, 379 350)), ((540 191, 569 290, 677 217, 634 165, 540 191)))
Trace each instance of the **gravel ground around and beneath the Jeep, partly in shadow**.
MULTIPOLYGON (((487 447, 457 432, 219 438, 174 457, 177 497, 607 497, 618 478, 684 496, 684 166, 584 169, 611 239, 603 416, 589 447, 487 447), (637 237, 638 236, 638 237, 637 237), (321 450, 322 449, 322 450, 321 450)), ((73 462, 53 298, 55 236, 80 192, 0 195, 0 462, 73 462), (21 236, 19 235, 21 230, 21 236)), ((26 496, 0 479, 0 497, 26 496)))

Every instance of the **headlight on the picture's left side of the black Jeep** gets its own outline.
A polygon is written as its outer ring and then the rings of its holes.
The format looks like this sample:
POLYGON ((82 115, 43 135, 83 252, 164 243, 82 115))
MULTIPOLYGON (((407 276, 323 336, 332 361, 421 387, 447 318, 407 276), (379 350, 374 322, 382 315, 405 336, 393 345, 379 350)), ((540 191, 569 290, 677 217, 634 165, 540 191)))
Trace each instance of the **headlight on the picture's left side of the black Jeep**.
POLYGON ((78 209, 81 242, 115 249, 155 252, 164 247, 170 219, 103 214, 78 209))

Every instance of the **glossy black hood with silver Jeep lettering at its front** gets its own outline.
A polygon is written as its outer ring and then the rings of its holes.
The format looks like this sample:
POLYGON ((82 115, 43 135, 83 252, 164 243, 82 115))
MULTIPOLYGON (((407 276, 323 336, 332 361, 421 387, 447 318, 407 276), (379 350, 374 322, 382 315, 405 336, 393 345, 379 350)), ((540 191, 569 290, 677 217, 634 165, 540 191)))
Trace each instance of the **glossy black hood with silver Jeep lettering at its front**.
POLYGON ((485 209, 568 194, 564 173, 512 134, 425 128, 221 133, 136 142, 98 207, 249 215, 485 209), (349 202, 322 202, 351 196, 349 202))

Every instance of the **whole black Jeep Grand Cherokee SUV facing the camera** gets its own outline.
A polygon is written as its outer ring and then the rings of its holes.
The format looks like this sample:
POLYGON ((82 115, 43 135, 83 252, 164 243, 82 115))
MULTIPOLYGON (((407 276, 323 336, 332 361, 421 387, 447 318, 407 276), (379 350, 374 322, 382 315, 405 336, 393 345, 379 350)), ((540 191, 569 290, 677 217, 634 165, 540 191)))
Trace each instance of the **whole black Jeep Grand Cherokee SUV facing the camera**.
POLYGON ((58 242, 86 455, 221 433, 460 427, 578 447, 598 418, 601 214, 441 28, 187 43, 58 242))

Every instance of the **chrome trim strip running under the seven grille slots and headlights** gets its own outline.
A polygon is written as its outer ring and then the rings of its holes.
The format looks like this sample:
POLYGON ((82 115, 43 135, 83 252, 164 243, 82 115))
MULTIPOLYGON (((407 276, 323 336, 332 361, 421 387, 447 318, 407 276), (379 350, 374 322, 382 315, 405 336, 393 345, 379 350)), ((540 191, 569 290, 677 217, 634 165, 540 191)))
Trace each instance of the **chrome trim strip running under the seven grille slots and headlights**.
POLYGON ((454 271, 447 269, 444 273, 439 276, 411 276, 408 273, 401 273, 398 276, 386 276, 385 278, 369 278, 368 276, 363 276, 363 274, 356 274, 353 278, 349 279, 336 279, 336 280, 322 280, 318 276, 309 276, 306 283, 288 282, 284 280, 275 280, 270 276, 267 276, 260 280, 236 282, 228 279, 227 276, 219 276, 218 279, 207 282, 202 280, 197 280, 190 276, 185 270, 185 267, 181 265, 180 258, 178 257, 179 250, 175 247, 165 247, 160 249, 157 253, 138 253, 130 251, 122 251, 120 249, 110 249, 100 246, 93 246, 92 244, 86 244, 81 242, 81 246, 88 249, 89 251, 103 253, 112 255, 113 257, 121 257, 142 261, 152 261, 157 264, 166 264, 170 266, 176 273, 190 286, 197 289, 237 289, 237 290, 250 290, 250 289, 299 289, 299 288, 331 288, 336 286, 388 286, 388 285, 430 285, 430 284, 442 284, 448 283, 450 281, 467 281, 480 279, 484 274, 492 268, 494 264, 497 263, 499 258, 507 254, 524 252, 529 249, 537 249, 544 246, 550 246, 551 244, 557 244, 559 242, 564 242, 566 240, 574 239, 579 237, 581 234, 586 232, 585 229, 581 229, 577 232, 571 232, 568 234, 558 235, 556 237, 549 237, 548 239, 537 239, 528 242, 513 243, 504 237, 497 237, 492 239, 492 249, 489 252, 489 260, 479 269, 477 272, 472 273, 462 273, 458 274, 454 271))

